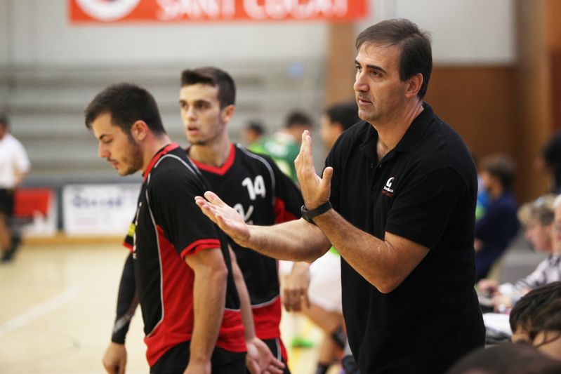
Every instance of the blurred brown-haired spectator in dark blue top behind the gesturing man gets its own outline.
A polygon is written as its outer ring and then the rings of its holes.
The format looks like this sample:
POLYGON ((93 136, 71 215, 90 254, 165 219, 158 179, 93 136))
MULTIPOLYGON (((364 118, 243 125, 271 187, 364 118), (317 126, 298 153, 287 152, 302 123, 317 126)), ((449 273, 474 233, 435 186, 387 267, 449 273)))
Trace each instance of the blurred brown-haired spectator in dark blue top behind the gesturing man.
POLYGON ((480 176, 489 195, 485 215, 475 223, 475 267, 477 280, 489 274, 514 239, 520 226, 512 192, 514 163, 506 154, 487 156, 481 162, 480 176))

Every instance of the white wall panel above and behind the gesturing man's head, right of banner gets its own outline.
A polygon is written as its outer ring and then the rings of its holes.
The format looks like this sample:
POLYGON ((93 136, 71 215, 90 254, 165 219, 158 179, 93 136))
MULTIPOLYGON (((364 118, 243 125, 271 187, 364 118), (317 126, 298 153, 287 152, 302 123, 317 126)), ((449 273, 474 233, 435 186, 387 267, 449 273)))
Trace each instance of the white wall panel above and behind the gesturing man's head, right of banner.
POLYGON ((409 18, 433 36, 436 64, 516 62, 513 0, 375 0, 358 31, 386 18, 409 18))

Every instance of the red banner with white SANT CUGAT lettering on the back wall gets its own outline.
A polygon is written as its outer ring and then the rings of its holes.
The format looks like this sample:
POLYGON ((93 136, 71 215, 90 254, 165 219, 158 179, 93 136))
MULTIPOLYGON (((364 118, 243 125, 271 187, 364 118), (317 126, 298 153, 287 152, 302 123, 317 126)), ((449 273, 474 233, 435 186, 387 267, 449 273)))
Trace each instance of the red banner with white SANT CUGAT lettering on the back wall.
POLYGON ((350 21, 367 15, 368 0, 68 0, 70 21, 350 21))

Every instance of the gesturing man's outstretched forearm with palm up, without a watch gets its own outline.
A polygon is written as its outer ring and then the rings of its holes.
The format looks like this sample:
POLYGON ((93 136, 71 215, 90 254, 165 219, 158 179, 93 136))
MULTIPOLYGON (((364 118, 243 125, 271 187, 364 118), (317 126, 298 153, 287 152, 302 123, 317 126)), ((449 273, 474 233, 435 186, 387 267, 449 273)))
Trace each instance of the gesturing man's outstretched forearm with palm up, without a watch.
POLYGON ((331 247, 324 233, 303 219, 249 226, 249 233, 249 240, 242 245, 279 260, 312 262, 331 247))

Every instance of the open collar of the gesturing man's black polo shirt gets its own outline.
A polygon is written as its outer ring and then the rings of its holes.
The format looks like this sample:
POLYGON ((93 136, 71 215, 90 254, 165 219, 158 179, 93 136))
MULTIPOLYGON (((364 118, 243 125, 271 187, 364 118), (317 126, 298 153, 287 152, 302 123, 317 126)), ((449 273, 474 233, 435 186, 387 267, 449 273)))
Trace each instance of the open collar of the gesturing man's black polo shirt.
MULTIPOLYGON (((433 108, 426 102, 423 102, 423 112, 416 116, 413 122, 411 122, 411 126, 409 126, 407 131, 405 131, 403 138, 397 143, 397 146, 395 146, 395 148, 392 149, 384 158, 391 158, 395 152, 411 152, 418 144, 418 141, 423 137, 423 134, 425 133, 428 124, 433 119, 433 116, 433 108)), ((359 145, 359 149, 375 163, 379 161, 378 156, 376 156, 377 144, 378 131, 376 131, 374 126, 369 123, 366 136, 359 145)))

